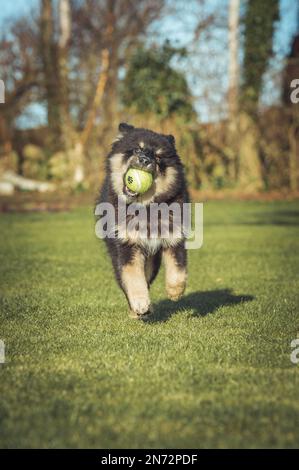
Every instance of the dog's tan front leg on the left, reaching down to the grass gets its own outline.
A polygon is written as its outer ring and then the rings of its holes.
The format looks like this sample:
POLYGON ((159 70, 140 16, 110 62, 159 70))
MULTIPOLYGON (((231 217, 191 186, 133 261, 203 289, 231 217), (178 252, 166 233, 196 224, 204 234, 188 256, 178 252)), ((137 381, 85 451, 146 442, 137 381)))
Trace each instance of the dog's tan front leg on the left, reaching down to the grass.
POLYGON ((122 266, 121 283, 133 316, 140 318, 151 313, 148 284, 145 276, 145 258, 136 250, 132 258, 122 266))

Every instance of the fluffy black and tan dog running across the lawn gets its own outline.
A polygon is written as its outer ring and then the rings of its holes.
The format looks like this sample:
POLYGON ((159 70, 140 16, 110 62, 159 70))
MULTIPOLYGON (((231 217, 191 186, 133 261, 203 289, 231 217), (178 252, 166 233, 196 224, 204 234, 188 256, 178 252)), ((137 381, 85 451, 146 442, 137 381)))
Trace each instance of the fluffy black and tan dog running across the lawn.
MULTIPOLYGON (((97 202, 112 204, 116 215, 119 200, 126 207, 133 203, 141 205, 147 212, 152 203, 171 205, 175 202, 182 207, 188 202, 184 169, 176 153, 174 137, 125 123, 119 125, 119 131, 107 157, 106 178, 97 202), (152 172, 154 183, 146 193, 136 194, 126 187, 124 176, 130 167, 152 172)), ((152 312, 149 286, 159 271, 162 257, 168 297, 178 300, 182 296, 186 285, 187 256, 181 226, 172 223, 167 238, 161 236, 160 230, 155 238, 141 237, 136 231, 129 231, 124 236, 117 226, 114 235, 105 241, 116 279, 134 317, 145 319, 152 312)))

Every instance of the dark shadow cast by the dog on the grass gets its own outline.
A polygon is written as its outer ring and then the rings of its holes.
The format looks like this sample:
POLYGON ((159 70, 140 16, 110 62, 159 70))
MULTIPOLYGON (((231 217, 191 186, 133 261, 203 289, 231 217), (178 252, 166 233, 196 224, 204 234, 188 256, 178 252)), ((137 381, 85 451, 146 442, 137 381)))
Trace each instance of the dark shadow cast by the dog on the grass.
POLYGON ((150 323, 165 322, 173 314, 183 310, 192 310, 191 316, 193 317, 204 317, 214 313, 220 307, 250 302, 253 299, 252 295, 235 295, 232 293, 232 289, 191 292, 178 302, 161 300, 154 305, 154 313, 147 321, 150 323))

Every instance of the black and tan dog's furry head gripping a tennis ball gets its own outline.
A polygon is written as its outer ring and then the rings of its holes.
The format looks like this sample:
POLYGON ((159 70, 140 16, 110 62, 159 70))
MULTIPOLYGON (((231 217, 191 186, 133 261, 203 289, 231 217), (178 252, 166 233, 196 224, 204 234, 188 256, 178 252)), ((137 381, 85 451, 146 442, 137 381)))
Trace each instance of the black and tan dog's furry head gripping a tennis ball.
POLYGON ((118 196, 123 196, 127 202, 149 204, 158 199, 170 199, 176 194, 182 165, 172 135, 121 123, 109 155, 108 170, 118 196), (129 168, 152 173, 154 183, 146 193, 138 195, 126 187, 124 179, 129 168))

